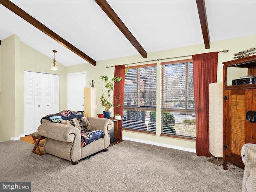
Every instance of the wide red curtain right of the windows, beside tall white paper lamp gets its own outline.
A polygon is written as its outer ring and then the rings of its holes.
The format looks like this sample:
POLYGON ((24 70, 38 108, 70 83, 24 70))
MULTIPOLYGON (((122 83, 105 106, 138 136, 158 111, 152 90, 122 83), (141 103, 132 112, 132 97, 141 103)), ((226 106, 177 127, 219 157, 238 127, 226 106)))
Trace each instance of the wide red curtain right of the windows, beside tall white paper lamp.
POLYGON ((196 113, 196 154, 197 156, 210 157, 209 83, 217 82, 218 52, 193 55, 192 58, 196 113))

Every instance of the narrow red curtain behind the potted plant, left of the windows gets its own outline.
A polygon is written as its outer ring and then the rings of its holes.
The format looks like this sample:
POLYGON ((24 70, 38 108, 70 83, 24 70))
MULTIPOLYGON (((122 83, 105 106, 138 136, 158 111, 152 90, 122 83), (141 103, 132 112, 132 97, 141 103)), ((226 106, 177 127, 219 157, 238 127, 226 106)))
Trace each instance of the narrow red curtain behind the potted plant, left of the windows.
MULTIPOLYGON (((114 83, 114 106, 118 106, 118 104, 120 104, 119 107, 114 107, 114 115, 120 114, 122 118, 124 117, 124 75, 124 65, 115 66, 114 76, 122 77, 123 80, 114 83), (119 98, 119 100, 116 101, 116 98, 119 98)), ((118 121, 118 140, 122 140, 122 123, 123 120, 118 121)))

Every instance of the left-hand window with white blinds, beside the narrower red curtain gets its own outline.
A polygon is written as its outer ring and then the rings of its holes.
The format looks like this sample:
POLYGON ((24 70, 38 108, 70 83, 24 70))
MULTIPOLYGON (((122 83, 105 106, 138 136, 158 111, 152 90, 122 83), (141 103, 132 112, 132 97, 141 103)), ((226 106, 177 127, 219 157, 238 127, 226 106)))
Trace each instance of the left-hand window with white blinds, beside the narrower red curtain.
POLYGON ((133 66, 125 74, 122 127, 156 132, 156 64, 133 66))

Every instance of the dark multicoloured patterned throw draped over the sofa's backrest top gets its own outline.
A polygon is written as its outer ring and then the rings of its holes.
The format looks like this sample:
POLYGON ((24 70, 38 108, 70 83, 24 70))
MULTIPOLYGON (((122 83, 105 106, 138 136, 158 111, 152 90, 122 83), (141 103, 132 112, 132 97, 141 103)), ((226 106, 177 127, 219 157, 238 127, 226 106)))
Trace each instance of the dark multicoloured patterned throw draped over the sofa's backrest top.
MULTIPOLYGON (((81 117, 87 117, 84 111, 63 110, 56 114, 46 115, 42 119, 46 119, 54 123, 60 123, 62 120, 71 120, 74 118, 81 118, 81 117)), ((41 124, 42 124, 42 119, 41 119, 41 124)))

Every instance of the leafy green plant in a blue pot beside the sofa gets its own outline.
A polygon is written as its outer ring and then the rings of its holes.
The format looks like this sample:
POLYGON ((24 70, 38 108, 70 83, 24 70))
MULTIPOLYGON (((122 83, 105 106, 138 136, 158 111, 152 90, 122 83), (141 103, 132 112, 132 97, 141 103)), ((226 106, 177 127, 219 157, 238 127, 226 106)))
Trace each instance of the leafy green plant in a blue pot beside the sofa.
MULTIPOLYGON (((113 99, 111 97, 110 91, 113 91, 114 89, 113 82, 120 82, 122 80, 122 77, 115 76, 114 78, 112 78, 111 81, 108 80, 107 76, 100 76, 100 79, 104 80, 104 82, 106 83, 105 87, 107 88, 105 92, 102 89, 102 95, 100 96, 100 104, 104 108, 104 118, 110 118, 110 109, 114 106, 114 100, 119 100, 119 97, 113 99)), ((120 104, 116 107, 119 106, 120 104)))

